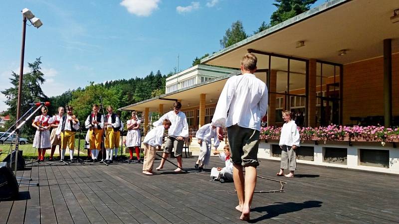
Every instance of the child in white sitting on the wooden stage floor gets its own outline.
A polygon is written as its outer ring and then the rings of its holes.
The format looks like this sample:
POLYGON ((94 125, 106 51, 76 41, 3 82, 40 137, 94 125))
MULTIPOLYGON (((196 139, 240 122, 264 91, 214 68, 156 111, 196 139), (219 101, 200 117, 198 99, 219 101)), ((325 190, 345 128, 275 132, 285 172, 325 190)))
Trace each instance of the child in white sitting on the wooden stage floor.
POLYGON ((233 163, 230 161, 230 148, 228 145, 223 147, 224 153, 215 151, 213 155, 219 155, 219 158, 225 162, 225 167, 213 167, 210 171, 210 177, 214 180, 219 180, 220 183, 225 181, 233 181, 233 163))

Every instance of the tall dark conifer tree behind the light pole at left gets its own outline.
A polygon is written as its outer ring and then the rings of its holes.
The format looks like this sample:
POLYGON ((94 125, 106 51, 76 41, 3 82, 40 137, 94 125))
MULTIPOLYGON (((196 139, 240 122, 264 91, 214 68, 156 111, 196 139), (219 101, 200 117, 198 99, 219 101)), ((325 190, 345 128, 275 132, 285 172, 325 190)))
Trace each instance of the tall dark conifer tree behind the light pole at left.
MULTIPOLYGON (((36 58, 33 63, 28 63, 30 72, 23 74, 21 105, 19 107, 21 115, 29 110, 29 103, 35 101, 48 101, 48 97, 44 95, 40 87, 40 85, 45 81, 43 78, 44 74, 40 71, 40 64, 41 58, 36 58)), ((5 124, 6 127, 11 126, 16 120, 19 75, 12 71, 9 80, 12 87, 1 91, 1 93, 6 97, 6 100, 4 101, 5 104, 9 106, 6 114, 10 115, 10 120, 5 124)), ((25 126, 26 127, 22 130, 22 134, 31 135, 34 133, 33 128, 30 128, 30 124, 27 123, 25 126)))

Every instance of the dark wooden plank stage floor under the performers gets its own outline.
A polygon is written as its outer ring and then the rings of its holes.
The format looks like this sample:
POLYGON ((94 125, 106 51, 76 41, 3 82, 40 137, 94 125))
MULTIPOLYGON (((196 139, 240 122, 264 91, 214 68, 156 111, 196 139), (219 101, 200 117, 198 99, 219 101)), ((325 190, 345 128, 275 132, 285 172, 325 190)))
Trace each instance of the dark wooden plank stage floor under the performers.
MULTIPOLYGON (((243 223, 233 183, 210 182, 208 173, 173 174, 168 162, 153 176, 141 164, 58 164, 18 171, 40 186, 21 185, 19 200, 0 202, 0 223, 243 223)), ((223 165, 211 158, 210 167, 223 165)), ((296 177, 285 178, 278 169, 278 161, 261 161, 258 175, 287 184, 284 193, 255 193, 251 223, 399 222, 398 175, 298 164, 296 177)), ((257 191, 279 188, 258 178, 257 191)))

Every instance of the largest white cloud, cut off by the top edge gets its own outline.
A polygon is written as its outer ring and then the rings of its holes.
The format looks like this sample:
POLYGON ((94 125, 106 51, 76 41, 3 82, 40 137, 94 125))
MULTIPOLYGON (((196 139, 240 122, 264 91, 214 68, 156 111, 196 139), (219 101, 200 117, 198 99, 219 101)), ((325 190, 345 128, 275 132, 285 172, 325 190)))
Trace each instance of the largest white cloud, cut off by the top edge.
POLYGON ((158 9, 158 4, 161 0, 122 0, 120 3, 126 7, 128 11, 137 16, 149 16, 158 9))

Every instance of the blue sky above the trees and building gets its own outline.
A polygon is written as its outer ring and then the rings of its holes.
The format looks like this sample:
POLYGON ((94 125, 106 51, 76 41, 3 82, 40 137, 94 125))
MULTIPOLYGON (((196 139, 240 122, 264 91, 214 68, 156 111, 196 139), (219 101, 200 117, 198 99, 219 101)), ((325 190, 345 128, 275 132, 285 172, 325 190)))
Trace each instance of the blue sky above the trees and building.
MULTIPOLYGON (((320 5, 326 0, 318 0, 320 5)), ((26 27, 27 62, 42 57, 47 96, 89 82, 145 77, 191 67, 196 56, 220 50, 236 20, 247 34, 276 9, 273 0, 7 0, 0 7, 0 90, 19 73, 22 16, 29 8, 43 26, 26 27)), ((7 108, 0 94, 0 111, 7 108)))

